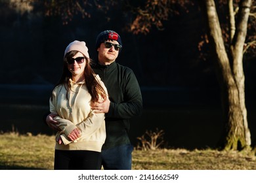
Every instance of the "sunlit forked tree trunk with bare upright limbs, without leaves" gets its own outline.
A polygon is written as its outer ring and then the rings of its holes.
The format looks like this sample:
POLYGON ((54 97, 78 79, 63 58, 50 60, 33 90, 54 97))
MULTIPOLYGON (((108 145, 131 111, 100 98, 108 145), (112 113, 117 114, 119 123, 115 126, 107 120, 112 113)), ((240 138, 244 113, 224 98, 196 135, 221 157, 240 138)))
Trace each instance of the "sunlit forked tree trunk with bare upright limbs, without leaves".
POLYGON ((223 111, 226 114, 227 131, 224 149, 248 148, 251 145, 251 134, 245 107, 243 50, 251 0, 240 1, 238 22, 236 23, 233 3, 228 1, 230 20, 229 56, 224 46, 215 1, 203 1, 203 5, 209 26, 209 39, 216 54, 217 75, 221 84, 223 111))

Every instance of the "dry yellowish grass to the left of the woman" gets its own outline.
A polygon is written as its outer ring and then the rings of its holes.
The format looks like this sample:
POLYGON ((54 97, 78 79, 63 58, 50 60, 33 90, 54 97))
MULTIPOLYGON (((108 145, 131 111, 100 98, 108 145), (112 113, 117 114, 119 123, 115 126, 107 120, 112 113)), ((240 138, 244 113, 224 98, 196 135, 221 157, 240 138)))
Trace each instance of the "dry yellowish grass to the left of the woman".
POLYGON ((0 135, 0 169, 53 169, 53 159, 53 137, 0 135))

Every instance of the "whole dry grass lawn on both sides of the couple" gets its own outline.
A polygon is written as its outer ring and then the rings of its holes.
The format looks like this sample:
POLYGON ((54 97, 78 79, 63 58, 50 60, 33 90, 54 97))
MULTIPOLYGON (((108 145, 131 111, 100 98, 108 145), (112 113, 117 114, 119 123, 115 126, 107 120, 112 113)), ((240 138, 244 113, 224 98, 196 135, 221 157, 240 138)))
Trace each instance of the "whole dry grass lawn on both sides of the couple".
MULTIPOLYGON (((53 169, 54 137, 0 134, 0 169, 53 169)), ((255 170, 254 154, 218 150, 133 151, 135 170, 255 170)))

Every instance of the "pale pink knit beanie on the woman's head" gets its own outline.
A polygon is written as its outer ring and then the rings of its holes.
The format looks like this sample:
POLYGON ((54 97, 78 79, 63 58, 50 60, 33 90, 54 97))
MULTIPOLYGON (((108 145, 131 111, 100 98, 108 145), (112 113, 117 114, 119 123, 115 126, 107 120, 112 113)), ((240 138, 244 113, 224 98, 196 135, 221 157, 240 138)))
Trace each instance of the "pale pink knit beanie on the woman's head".
POLYGON ((89 53, 88 53, 88 48, 85 44, 84 41, 73 41, 73 42, 70 42, 70 44, 68 44, 65 52, 64 52, 64 57, 66 56, 66 54, 70 51, 73 51, 73 50, 76 50, 76 51, 79 51, 81 52, 84 56, 86 56, 87 58, 90 58, 89 57, 89 53))

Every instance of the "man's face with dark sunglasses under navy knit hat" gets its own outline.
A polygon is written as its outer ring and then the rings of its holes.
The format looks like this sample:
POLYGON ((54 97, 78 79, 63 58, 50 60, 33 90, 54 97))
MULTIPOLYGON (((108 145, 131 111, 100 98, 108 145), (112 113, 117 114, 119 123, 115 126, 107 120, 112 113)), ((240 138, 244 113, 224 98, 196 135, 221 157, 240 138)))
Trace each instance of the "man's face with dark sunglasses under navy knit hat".
MULTIPOLYGON (((106 42, 110 42, 112 44, 119 44, 117 41, 114 41, 114 40, 108 40, 106 42)), ((116 58, 119 54, 119 50, 116 50, 115 46, 110 46, 110 48, 107 48, 109 46, 109 43, 107 43, 107 44, 108 45, 105 46, 105 43, 102 42, 100 44, 100 47, 97 49, 98 61, 102 65, 109 65, 110 63, 112 63, 113 61, 116 60, 116 58)))

